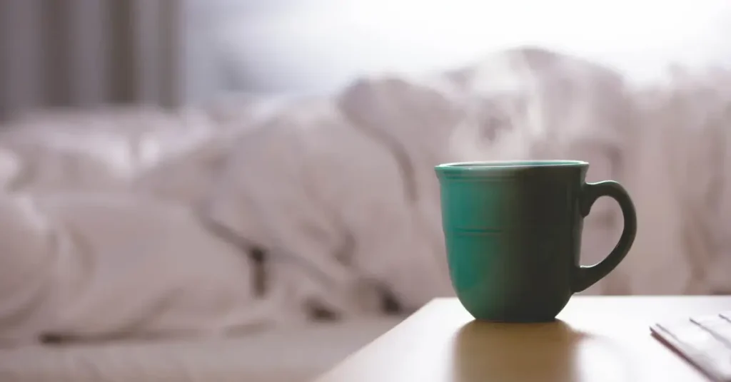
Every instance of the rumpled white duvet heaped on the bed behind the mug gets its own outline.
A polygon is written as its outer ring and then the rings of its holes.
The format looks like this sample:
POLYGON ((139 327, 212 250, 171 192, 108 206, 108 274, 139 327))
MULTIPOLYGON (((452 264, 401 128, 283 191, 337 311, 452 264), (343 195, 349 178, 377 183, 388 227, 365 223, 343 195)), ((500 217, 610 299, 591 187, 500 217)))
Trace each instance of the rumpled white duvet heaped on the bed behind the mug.
MULTIPOLYGON (((578 158, 626 183, 637 245, 587 293, 730 291, 712 273, 729 262, 728 98, 690 83, 645 94, 521 49, 330 99, 26 118, 0 134, 0 341, 224 335, 451 295, 447 161, 578 158)), ((612 248, 617 210, 586 219, 584 263, 612 248)))

